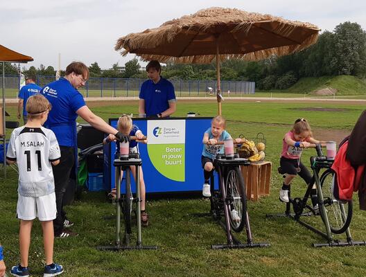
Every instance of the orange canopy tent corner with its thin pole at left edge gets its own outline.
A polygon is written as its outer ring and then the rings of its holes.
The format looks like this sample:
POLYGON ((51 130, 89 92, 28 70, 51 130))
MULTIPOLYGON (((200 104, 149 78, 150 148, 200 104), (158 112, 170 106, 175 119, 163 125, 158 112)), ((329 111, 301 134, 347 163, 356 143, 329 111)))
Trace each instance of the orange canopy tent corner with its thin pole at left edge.
POLYGON ((6 176, 6 151, 5 151, 5 144, 6 144, 6 129, 5 129, 5 62, 32 62, 33 57, 23 55, 21 53, 12 51, 9 48, 6 48, 5 46, 2 46, 0 44, 0 62, 3 64, 3 145, 4 145, 4 151, 3 151, 3 168, 4 168, 4 176, 6 176))

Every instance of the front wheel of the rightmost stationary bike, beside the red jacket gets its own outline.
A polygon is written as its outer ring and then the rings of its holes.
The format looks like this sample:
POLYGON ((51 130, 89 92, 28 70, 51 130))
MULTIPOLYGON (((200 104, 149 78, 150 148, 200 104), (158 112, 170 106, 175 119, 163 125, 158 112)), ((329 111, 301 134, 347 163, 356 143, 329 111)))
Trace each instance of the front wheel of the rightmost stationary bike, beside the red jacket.
POLYGON ((352 200, 343 201, 338 200, 333 195, 335 173, 328 169, 324 171, 320 177, 320 186, 322 186, 322 193, 324 199, 324 207, 326 215, 320 209, 320 215, 324 223, 326 223, 326 216, 328 217, 331 231, 336 234, 344 233, 352 219, 352 200))

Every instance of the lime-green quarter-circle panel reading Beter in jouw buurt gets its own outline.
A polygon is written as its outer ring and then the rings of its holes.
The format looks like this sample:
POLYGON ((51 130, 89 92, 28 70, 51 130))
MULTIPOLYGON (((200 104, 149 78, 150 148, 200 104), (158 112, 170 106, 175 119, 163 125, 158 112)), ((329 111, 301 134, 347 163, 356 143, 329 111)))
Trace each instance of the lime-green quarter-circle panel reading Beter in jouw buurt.
POLYGON ((184 144, 148 144, 148 154, 153 166, 166 178, 185 181, 184 144))

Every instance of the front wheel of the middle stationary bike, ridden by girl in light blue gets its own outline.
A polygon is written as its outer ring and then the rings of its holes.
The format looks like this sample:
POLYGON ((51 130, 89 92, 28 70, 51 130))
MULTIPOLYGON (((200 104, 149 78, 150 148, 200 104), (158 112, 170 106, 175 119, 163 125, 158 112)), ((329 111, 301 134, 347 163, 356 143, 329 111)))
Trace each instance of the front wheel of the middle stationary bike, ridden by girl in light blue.
POLYGON ((227 170, 225 190, 230 225, 235 232, 241 232, 247 216, 247 197, 243 175, 238 166, 227 170))

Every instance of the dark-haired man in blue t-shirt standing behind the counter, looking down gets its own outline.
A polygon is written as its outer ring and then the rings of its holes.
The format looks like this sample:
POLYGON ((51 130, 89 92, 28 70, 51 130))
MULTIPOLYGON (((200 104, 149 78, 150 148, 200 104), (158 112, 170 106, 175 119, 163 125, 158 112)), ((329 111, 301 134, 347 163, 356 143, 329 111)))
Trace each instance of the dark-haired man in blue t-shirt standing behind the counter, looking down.
POLYGON ((148 118, 170 116, 177 106, 173 84, 162 78, 162 66, 157 60, 148 63, 146 72, 150 80, 141 85, 139 114, 146 114, 148 118))

